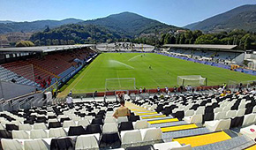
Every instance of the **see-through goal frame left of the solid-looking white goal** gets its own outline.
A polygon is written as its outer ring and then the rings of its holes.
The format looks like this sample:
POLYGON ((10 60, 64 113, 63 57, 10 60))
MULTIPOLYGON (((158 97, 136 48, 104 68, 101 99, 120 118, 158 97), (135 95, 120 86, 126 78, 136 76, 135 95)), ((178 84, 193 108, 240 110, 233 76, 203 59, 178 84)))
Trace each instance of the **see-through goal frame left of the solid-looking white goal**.
POLYGON ((106 91, 136 89, 135 78, 106 79, 105 89, 106 91))

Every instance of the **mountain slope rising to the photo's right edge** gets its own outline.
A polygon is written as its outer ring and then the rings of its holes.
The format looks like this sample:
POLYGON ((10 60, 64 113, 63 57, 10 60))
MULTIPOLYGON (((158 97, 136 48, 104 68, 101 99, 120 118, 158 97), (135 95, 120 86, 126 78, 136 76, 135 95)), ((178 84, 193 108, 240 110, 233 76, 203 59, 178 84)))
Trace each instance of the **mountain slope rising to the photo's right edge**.
POLYGON ((230 11, 205 19, 198 25, 192 27, 192 30, 195 29, 210 33, 230 31, 233 29, 256 32, 256 4, 239 6, 230 11))

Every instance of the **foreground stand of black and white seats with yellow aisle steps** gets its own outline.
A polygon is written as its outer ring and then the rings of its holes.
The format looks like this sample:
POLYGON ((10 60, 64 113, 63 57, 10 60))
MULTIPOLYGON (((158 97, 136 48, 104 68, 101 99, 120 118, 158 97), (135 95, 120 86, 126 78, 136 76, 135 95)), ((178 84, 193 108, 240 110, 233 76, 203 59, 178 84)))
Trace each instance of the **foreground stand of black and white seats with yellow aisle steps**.
POLYGON ((117 101, 75 100, 4 111, 4 149, 244 149, 256 138, 256 94, 126 95, 131 116, 114 118, 117 101))

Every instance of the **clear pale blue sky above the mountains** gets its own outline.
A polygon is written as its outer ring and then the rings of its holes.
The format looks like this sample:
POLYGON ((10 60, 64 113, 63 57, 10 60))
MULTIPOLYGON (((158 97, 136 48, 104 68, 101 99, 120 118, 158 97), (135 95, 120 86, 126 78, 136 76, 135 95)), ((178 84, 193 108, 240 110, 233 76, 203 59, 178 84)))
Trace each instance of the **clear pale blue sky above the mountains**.
POLYGON ((97 19, 123 11, 185 26, 256 0, 0 0, 0 20, 97 19))

